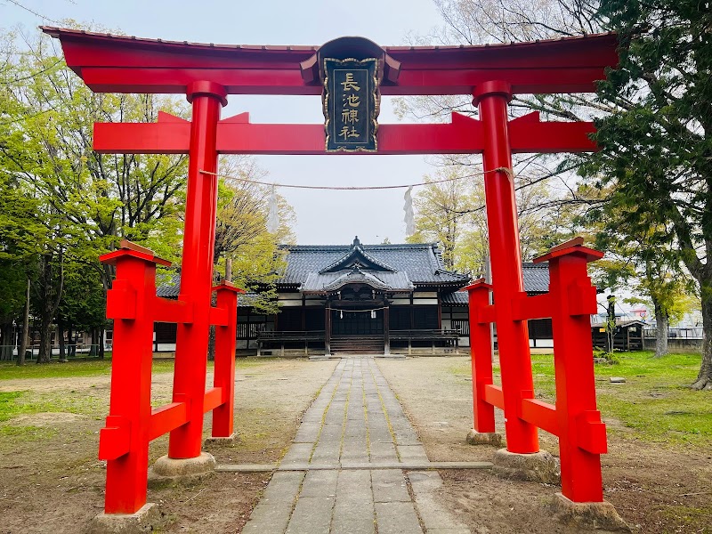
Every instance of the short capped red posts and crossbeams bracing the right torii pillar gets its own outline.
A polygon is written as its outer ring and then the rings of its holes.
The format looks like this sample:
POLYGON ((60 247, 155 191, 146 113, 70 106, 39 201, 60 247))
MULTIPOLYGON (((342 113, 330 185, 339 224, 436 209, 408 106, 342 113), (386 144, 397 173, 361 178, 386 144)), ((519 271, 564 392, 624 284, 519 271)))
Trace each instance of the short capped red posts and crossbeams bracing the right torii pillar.
MULTIPOLYGON (((605 425, 595 404, 595 376, 590 315, 595 313, 595 287, 587 263, 603 256, 582 247, 577 238, 554 247, 534 260, 549 262, 549 292, 529 296, 520 291, 508 301, 488 303, 490 287, 477 280, 470 293, 470 332, 473 351, 473 409, 475 430, 491 432, 490 409, 506 411, 506 390, 492 384, 490 322, 506 308, 513 320, 552 318, 554 328, 555 406, 536 399, 533 387, 518 393, 514 413, 528 425, 559 438, 562 494, 573 503, 603 502, 601 455, 607 450, 605 425)), ((504 380, 504 375, 503 375, 504 380)), ((480 441, 486 442, 486 441, 480 441)))

